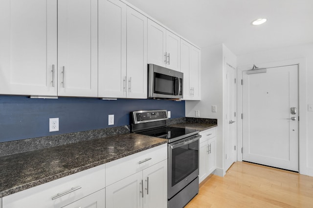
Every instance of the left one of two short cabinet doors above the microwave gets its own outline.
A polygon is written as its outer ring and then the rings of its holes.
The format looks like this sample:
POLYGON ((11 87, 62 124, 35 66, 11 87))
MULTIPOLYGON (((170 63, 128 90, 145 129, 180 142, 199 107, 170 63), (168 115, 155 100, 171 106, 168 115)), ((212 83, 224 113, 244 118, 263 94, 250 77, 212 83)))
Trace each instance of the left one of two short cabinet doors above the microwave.
POLYGON ((166 67, 166 29, 148 19, 148 63, 166 67))

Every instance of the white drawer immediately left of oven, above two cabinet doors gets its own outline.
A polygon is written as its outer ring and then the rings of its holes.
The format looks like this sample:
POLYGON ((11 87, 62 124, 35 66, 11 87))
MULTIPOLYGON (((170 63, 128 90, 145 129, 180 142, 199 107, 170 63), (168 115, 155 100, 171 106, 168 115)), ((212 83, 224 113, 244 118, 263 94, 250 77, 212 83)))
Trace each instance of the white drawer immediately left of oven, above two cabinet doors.
POLYGON ((106 185, 167 159, 167 144, 141 151, 106 164, 106 185))

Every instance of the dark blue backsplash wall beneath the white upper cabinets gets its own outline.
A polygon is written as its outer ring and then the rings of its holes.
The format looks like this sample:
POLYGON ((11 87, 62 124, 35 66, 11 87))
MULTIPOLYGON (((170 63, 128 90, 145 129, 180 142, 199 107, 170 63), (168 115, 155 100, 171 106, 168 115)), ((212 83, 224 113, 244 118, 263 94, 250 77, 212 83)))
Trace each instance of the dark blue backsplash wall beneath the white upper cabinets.
POLYGON ((0 96, 0 142, 129 125, 131 111, 158 109, 171 111, 171 118, 185 117, 185 101, 0 96), (108 126, 109 114, 114 114, 114 125, 108 126), (54 117, 59 131, 49 132, 54 117))

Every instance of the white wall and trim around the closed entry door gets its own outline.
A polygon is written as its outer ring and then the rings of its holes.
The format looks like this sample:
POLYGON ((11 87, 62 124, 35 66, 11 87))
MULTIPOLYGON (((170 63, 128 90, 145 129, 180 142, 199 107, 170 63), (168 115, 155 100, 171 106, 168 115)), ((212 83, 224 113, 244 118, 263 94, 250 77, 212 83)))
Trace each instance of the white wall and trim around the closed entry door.
MULTIPOLYGON (((308 112, 308 103, 313 104, 313 43, 286 47, 237 57, 238 76, 241 70, 273 65, 299 64, 299 164, 300 173, 313 176, 313 112, 308 112)), ((238 95, 241 93, 238 88, 238 95)), ((238 106, 238 113, 240 113, 238 106)), ((238 135, 240 131, 238 132, 238 135)), ((239 137, 238 137, 239 141, 239 137)), ((239 146, 238 146, 239 147, 239 146)))

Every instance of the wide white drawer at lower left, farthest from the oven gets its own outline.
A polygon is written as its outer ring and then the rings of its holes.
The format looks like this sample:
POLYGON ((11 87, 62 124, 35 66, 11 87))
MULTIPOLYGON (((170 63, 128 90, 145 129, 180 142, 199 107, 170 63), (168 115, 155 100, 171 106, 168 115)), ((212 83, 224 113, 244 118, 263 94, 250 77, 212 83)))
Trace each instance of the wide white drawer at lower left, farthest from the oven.
POLYGON ((2 203, 5 208, 61 208, 103 188, 105 164, 5 196, 2 203))

